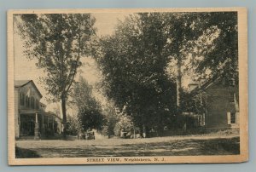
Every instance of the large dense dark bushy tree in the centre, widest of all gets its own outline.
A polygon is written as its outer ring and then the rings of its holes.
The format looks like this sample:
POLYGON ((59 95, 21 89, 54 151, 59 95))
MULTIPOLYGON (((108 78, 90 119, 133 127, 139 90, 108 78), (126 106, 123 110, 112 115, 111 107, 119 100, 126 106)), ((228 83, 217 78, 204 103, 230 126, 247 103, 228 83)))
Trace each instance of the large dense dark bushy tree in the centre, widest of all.
POLYGON ((100 41, 97 55, 109 99, 148 132, 162 129, 175 114, 175 84, 166 74, 169 57, 162 54, 166 38, 160 14, 138 14, 119 23, 111 37, 100 41), (151 23, 150 23, 151 22, 151 23))

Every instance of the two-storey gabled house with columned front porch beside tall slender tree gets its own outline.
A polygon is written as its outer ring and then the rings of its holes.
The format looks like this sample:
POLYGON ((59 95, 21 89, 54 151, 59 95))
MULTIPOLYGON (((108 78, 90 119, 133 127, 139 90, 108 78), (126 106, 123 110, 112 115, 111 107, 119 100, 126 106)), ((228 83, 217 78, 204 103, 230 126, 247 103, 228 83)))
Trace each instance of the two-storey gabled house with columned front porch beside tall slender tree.
POLYGON ((15 81, 15 138, 38 140, 49 133, 61 132, 61 118, 45 112, 46 106, 40 102, 42 97, 32 80, 15 81))

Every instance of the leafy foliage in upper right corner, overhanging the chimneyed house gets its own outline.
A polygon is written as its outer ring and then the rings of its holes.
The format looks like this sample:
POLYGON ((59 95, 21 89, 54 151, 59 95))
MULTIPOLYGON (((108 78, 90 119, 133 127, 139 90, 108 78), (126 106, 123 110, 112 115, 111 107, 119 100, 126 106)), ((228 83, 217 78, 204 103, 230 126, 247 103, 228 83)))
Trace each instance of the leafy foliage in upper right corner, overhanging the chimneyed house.
POLYGON ((238 25, 236 12, 209 13, 201 25, 202 37, 195 41, 197 54, 194 58, 195 72, 202 77, 222 76, 229 82, 234 79, 238 84, 238 25), (207 38, 212 34, 211 44, 207 38))

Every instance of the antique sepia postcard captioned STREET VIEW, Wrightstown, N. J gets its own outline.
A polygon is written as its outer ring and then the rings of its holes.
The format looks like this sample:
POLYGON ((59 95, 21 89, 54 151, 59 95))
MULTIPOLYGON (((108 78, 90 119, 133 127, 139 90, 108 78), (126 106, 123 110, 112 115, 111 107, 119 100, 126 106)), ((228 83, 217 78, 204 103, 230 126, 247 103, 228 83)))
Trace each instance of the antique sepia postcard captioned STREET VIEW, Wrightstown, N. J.
POLYGON ((247 9, 8 12, 9 164, 241 163, 247 9))

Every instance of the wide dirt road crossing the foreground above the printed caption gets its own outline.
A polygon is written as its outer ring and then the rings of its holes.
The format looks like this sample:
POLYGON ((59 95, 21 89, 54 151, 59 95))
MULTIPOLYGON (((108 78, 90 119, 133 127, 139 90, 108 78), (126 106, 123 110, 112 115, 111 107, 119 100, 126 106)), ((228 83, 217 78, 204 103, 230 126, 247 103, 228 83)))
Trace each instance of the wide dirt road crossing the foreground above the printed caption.
MULTIPOLYGON (((148 139, 17 140, 25 157, 105 157, 239 154, 237 135, 190 135, 148 139)), ((19 154, 19 152, 17 153, 19 154)), ((21 153, 20 158, 22 158, 21 153)), ((18 156, 19 157, 19 156, 18 156)))

